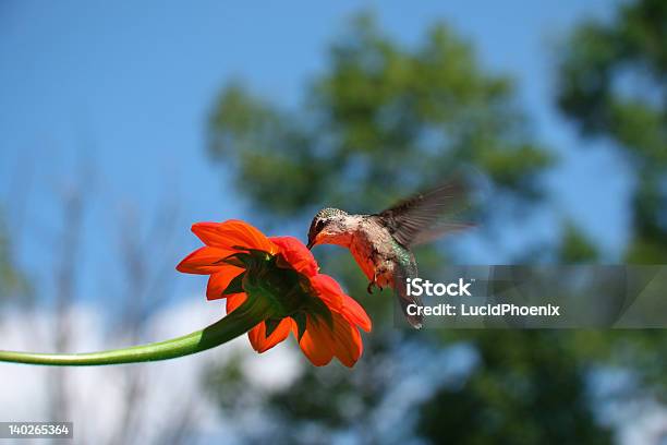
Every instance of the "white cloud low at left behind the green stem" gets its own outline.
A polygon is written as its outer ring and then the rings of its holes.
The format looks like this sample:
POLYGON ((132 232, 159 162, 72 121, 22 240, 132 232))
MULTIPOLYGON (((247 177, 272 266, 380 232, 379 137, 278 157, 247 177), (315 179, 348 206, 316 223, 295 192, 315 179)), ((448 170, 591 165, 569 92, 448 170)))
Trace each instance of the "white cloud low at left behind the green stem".
MULTIPOLYGON (((203 303, 201 297, 186 299, 157 313, 148 323, 150 340, 162 340, 206 326, 221 315, 219 303, 203 303)), ((73 351, 92 351, 126 345, 122 338, 105 338, 107 326, 99 308, 76 305, 69 313, 73 351)), ((0 320, 0 348, 10 350, 53 350, 53 317, 46 311, 11 312, 0 320)), ((234 424, 226 421, 201 385, 203 371, 213 364, 242 357, 241 369, 250 381, 270 390, 289 384, 301 369, 294 348, 279 345, 263 354, 250 348, 245 336, 222 347, 195 356, 165 362, 64 369, 70 399, 68 419, 74 422, 75 436, 82 442, 110 443, 124 421, 126 374, 142 374, 140 437, 131 443, 153 443, 169 426, 189 412, 191 426, 216 443, 233 443, 234 424), (237 353, 231 354, 232 351, 237 353), (241 352, 241 356, 238 354, 241 352)), ((52 420, 49 394, 56 368, 0 363, 0 420, 52 420)))

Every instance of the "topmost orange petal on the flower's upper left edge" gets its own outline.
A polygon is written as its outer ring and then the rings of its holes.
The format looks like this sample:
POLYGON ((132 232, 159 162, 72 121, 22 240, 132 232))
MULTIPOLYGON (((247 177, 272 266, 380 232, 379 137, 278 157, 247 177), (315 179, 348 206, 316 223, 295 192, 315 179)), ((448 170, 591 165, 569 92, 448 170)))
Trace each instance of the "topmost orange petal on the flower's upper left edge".
POLYGON ((242 246, 269 253, 278 252, 278 248, 264 233, 239 219, 229 219, 225 222, 197 222, 192 226, 192 231, 206 245, 223 249, 242 246))

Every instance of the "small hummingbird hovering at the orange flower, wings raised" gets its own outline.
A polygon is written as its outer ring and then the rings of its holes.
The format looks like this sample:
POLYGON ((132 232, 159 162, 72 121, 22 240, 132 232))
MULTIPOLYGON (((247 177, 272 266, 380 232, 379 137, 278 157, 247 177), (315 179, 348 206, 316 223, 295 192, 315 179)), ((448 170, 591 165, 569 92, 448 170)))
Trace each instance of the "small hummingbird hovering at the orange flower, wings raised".
POLYGON ((422 305, 421 299, 408 294, 407 289, 407 279, 417 277, 412 248, 470 226, 444 221, 460 205, 464 191, 462 182, 451 181, 369 215, 323 208, 311 222, 307 246, 337 244, 349 249, 369 280, 368 293, 374 287, 380 291, 392 288, 408 323, 420 329, 422 315, 408 313, 410 304, 422 305))

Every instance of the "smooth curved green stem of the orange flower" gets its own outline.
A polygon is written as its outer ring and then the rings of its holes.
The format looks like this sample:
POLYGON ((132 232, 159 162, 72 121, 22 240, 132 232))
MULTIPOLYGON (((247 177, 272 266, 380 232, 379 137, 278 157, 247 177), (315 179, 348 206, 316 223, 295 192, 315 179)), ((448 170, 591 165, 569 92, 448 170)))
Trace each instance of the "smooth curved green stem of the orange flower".
POLYGON ((0 361, 54 366, 88 366, 168 360, 222 345, 248 332, 268 316, 270 314, 267 314, 266 303, 263 299, 248 298, 235 311, 210 326, 170 340, 86 353, 36 353, 0 350, 0 361))

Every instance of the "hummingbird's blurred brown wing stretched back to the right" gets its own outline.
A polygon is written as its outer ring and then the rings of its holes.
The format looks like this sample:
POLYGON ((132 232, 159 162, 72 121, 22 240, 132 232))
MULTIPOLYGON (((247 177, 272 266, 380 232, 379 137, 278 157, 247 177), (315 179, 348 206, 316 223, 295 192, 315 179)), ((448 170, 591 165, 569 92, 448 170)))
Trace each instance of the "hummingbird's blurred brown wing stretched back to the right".
POLYGON ((401 201, 378 216, 393 238, 410 248, 473 226, 448 220, 466 206, 468 188, 461 179, 456 179, 401 201))

